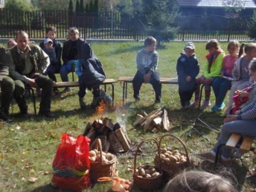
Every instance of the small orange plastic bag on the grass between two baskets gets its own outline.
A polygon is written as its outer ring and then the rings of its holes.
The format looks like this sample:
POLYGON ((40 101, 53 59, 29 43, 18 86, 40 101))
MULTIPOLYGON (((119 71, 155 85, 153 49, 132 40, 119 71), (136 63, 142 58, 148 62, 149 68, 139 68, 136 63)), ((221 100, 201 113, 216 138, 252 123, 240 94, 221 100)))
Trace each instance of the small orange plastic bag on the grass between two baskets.
POLYGON ((116 178, 113 177, 101 177, 98 178, 98 181, 103 182, 103 181, 114 181, 111 185, 111 190, 112 191, 117 191, 117 192, 129 192, 131 190, 131 187, 133 187, 133 182, 122 179, 118 177, 118 173, 115 173, 113 171, 113 174, 115 175, 116 178))

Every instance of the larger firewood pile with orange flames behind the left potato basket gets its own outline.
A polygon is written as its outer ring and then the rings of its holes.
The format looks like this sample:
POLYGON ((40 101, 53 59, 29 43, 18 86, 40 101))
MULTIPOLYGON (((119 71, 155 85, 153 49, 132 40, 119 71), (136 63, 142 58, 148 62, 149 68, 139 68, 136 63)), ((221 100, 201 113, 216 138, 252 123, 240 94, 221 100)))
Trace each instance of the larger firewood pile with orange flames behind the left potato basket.
POLYGON ((102 151, 126 152, 130 149, 131 141, 125 128, 119 123, 113 123, 109 118, 94 119, 87 123, 83 136, 91 139, 90 150, 94 149, 97 139, 101 140, 102 151))

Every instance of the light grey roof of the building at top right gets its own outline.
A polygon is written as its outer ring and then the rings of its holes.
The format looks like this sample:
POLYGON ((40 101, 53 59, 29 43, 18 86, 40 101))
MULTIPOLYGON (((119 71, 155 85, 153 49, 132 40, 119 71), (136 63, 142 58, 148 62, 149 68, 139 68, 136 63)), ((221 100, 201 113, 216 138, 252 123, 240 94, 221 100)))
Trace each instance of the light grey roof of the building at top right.
MULTIPOLYGON (((256 9, 256 3, 254 0, 239 1, 241 1, 242 7, 244 8, 256 9)), ((227 0, 177 0, 177 2, 181 7, 223 7, 226 5, 225 2, 227 2, 227 0)))

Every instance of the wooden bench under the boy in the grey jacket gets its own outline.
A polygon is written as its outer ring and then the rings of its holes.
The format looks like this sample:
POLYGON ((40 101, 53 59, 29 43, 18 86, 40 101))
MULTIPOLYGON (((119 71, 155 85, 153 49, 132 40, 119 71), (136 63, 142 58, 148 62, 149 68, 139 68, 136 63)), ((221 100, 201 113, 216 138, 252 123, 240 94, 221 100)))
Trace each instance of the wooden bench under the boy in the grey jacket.
MULTIPOLYGON (((123 82, 123 105, 127 98, 127 84, 133 82, 133 77, 119 77, 119 82, 123 82)), ((178 84, 177 78, 160 78, 162 84, 178 84)))

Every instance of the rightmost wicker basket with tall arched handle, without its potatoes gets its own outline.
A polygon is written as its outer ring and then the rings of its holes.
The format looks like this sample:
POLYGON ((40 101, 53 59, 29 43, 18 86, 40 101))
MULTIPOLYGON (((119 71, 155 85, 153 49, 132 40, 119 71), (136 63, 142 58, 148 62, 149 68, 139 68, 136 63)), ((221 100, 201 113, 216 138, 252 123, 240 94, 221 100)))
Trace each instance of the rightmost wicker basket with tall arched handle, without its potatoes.
MULTIPOLYGON (((163 171, 166 171, 168 174, 170 175, 175 175, 177 173, 179 173, 180 171, 182 171, 183 169, 186 169, 187 167, 191 166, 191 161, 189 159, 189 155, 187 154, 187 148, 185 146, 185 144, 181 141, 181 139, 179 139, 178 137, 176 137, 175 135, 173 134, 166 134, 166 135, 163 135, 160 140, 159 140, 159 147, 161 148, 161 142, 162 142, 162 139, 165 138, 165 137, 174 137, 175 139, 178 139, 179 142, 181 142, 184 150, 185 150, 185 154, 184 153, 181 153, 179 152, 181 155, 184 155, 186 157, 186 162, 171 162, 171 161, 167 161, 165 158, 161 157, 159 155, 159 151, 158 153, 155 155, 155 159, 154 159, 154 163, 155 163, 155 166, 162 169, 163 171)), ((162 149, 160 149, 161 151, 162 149)), ((167 149, 168 151, 174 151, 172 149, 167 149)))

